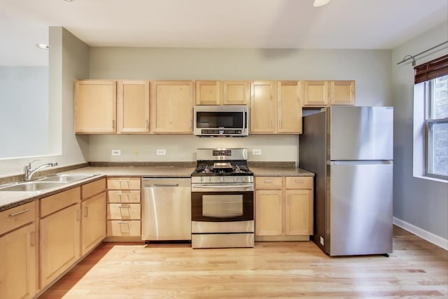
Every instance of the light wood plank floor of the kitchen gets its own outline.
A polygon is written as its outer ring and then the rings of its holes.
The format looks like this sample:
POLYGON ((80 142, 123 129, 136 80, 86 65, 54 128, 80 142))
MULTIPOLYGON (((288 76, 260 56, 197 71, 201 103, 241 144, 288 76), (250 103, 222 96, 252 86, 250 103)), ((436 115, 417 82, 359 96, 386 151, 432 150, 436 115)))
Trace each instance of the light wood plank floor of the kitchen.
POLYGON ((448 298, 448 251, 394 227, 390 257, 312 242, 253 249, 104 243, 43 298, 448 298))

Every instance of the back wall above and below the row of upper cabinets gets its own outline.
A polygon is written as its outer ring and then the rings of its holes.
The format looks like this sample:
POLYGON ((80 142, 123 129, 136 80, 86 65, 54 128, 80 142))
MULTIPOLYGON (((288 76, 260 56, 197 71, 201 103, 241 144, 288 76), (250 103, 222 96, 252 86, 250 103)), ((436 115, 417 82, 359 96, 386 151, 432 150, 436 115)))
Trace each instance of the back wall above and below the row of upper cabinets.
MULTIPOLYGON (((90 48, 90 78, 150 80, 355 80, 358 106, 391 105, 390 50, 90 48)), ((91 135, 90 161, 194 161, 200 147, 260 148, 249 160, 294 161, 297 135, 199 139, 191 135, 91 135), (155 149, 166 148, 166 156, 155 149), (122 156, 112 157, 112 149, 122 156), (135 155, 135 150, 140 155, 135 155)))

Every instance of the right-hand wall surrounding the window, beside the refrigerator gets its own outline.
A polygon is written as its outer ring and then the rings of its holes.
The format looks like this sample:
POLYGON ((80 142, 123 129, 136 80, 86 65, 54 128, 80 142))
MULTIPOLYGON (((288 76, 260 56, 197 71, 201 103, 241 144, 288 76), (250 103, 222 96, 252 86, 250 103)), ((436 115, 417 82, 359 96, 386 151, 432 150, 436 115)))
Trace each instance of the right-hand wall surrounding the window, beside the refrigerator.
MULTIPOLYGON (((448 183, 413 176, 413 90, 411 62, 397 65, 405 55, 416 55, 447 41, 448 23, 393 49, 392 92, 395 106, 393 215, 396 222, 427 239, 448 242, 448 183)), ((446 47, 417 57, 416 65, 447 55, 446 47)), ((416 150, 416 149, 414 149, 416 150)))

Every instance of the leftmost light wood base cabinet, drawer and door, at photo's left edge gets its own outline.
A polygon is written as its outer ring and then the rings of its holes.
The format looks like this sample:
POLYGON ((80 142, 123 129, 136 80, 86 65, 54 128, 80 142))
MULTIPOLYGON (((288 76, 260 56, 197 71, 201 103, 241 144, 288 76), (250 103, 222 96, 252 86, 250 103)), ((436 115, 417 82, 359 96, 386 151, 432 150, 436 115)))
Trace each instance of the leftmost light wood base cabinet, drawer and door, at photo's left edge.
POLYGON ((35 202, 0 212, 0 298, 27 299, 36 293, 35 202))

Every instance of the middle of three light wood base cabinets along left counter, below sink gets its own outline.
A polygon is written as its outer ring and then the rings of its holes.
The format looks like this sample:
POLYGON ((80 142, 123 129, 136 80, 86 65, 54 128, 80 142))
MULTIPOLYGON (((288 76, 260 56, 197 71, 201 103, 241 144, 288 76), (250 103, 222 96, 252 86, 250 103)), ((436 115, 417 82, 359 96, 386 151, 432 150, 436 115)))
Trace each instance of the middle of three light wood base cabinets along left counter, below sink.
POLYGON ((80 258, 80 187, 40 200, 40 287, 80 258))

